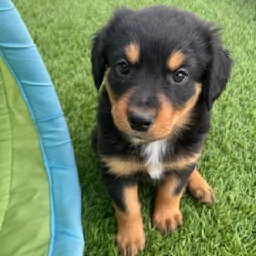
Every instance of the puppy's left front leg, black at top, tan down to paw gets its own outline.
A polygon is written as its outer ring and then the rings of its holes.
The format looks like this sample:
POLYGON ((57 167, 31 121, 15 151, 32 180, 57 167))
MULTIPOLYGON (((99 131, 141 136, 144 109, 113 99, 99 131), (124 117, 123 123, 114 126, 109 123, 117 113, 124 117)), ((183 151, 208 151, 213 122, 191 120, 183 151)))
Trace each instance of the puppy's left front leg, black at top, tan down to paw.
POLYGON ((116 242, 121 255, 135 256, 145 247, 137 183, 116 177, 106 170, 103 181, 115 207, 118 223, 116 242))

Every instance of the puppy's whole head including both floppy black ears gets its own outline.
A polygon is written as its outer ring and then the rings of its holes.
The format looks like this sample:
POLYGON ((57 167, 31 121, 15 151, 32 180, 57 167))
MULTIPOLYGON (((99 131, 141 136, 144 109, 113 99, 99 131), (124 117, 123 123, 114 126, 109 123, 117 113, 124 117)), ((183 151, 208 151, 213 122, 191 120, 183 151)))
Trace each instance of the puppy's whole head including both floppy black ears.
POLYGON ((114 123, 135 142, 181 130, 199 99, 211 109, 230 69, 217 30, 170 7, 117 10, 93 41, 95 86, 106 77, 114 123))

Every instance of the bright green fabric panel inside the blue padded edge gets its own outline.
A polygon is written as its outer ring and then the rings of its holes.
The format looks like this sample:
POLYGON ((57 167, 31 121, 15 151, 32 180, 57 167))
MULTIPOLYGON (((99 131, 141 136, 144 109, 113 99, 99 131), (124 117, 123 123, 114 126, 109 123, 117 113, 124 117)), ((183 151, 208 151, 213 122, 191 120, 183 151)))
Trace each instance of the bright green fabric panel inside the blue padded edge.
POLYGON ((0 55, 0 255, 47 255, 50 210, 38 134, 0 55))

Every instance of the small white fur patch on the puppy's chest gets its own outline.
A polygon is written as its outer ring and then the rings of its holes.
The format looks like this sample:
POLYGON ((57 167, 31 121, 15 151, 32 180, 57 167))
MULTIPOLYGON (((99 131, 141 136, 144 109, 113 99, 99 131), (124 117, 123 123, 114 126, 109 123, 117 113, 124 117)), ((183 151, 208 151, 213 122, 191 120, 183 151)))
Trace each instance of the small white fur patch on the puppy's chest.
POLYGON ((162 158, 166 151, 166 140, 157 140, 142 147, 141 155, 146 157, 146 166, 153 179, 161 178, 163 174, 162 158))

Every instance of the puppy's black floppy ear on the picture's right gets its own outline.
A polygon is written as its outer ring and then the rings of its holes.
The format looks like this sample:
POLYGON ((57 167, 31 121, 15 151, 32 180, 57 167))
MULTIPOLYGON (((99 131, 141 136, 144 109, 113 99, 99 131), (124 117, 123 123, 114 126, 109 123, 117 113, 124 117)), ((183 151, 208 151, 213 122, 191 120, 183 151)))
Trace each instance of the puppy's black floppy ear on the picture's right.
POLYGON ((221 44, 219 30, 212 29, 211 33, 212 60, 207 70, 204 86, 204 99, 209 110, 225 89, 232 66, 230 54, 223 49, 221 44))

